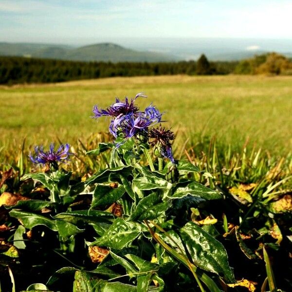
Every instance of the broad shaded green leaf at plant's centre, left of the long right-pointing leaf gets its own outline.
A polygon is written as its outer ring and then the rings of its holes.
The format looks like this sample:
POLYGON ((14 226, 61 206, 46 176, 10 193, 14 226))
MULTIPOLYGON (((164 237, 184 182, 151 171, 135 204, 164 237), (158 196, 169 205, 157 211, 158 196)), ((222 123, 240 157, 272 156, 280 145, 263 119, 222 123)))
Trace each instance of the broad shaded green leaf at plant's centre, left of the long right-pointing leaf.
POLYGON ((152 193, 139 201, 129 220, 156 219, 164 215, 169 202, 162 202, 158 193, 152 193))

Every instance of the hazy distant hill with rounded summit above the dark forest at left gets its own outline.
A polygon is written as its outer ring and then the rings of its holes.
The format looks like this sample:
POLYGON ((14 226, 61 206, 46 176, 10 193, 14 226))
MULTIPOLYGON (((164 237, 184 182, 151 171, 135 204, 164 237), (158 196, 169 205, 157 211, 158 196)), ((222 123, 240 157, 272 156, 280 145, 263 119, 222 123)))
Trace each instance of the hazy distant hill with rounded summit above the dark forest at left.
POLYGON ((64 45, 0 42, 0 55, 75 61, 168 62, 178 60, 176 56, 131 50, 113 43, 75 48, 64 45))

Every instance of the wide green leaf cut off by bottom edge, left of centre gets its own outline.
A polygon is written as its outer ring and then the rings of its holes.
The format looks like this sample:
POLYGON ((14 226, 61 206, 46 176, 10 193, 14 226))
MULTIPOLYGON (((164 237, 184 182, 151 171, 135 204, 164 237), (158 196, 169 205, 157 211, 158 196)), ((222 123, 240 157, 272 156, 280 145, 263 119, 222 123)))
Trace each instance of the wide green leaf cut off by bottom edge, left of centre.
POLYGON ((137 292, 132 285, 120 282, 108 282, 88 272, 77 271, 73 283, 73 292, 137 292))

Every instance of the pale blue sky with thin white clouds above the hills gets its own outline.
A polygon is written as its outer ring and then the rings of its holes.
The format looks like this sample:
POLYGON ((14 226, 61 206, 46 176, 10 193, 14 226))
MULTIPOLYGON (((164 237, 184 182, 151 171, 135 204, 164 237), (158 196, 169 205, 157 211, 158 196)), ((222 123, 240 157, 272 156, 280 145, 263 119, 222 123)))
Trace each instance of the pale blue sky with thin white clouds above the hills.
POLYGON ((292 0, 0 0, 0 41, 292 39, 292 0))

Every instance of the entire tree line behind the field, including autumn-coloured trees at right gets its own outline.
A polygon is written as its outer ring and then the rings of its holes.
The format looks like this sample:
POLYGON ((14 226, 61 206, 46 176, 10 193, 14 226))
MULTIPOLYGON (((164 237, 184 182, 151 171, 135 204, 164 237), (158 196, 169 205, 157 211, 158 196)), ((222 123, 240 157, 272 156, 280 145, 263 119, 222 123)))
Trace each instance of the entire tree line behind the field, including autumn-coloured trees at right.
POLYGON ((246 60, 209 62, 76 62, 25 57, 0 57, 0 84, 48 83, 115 76, 292 74, 292 61, 276 53, 255 55, 246 60))

